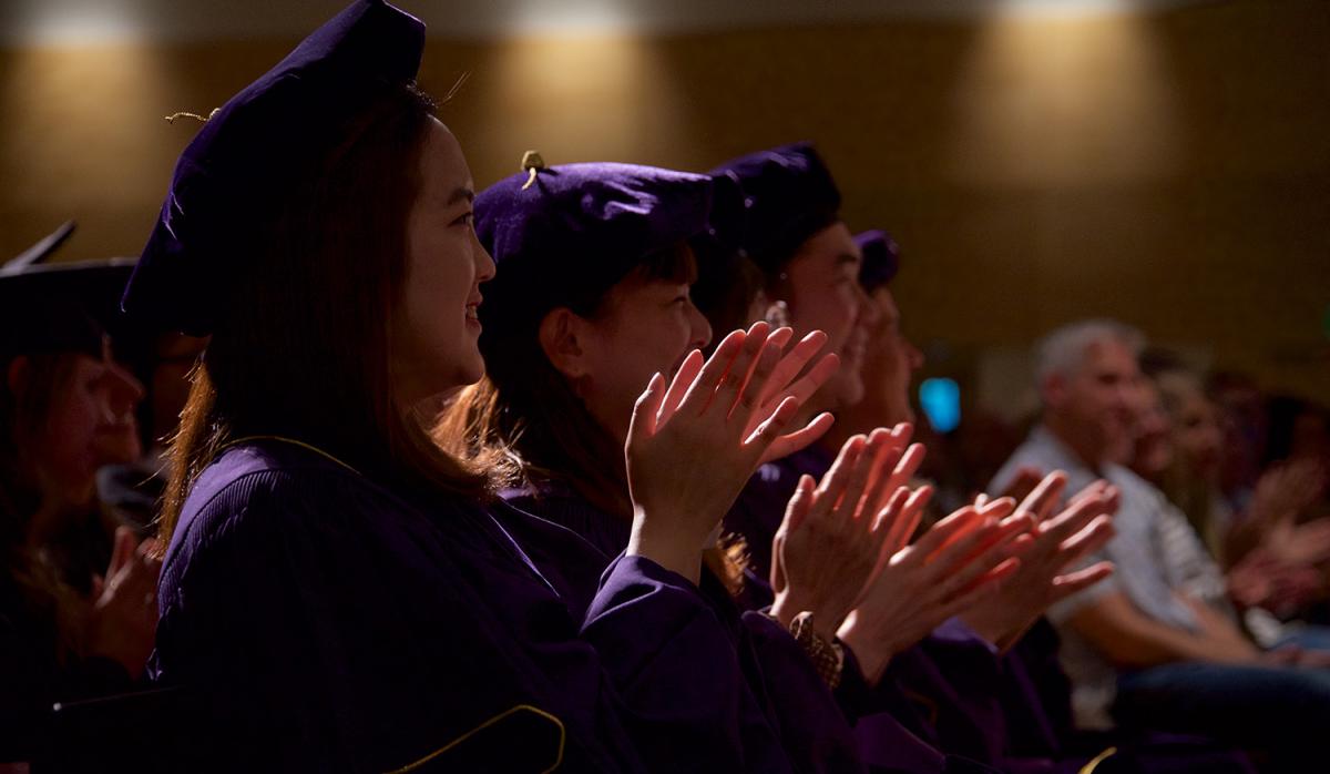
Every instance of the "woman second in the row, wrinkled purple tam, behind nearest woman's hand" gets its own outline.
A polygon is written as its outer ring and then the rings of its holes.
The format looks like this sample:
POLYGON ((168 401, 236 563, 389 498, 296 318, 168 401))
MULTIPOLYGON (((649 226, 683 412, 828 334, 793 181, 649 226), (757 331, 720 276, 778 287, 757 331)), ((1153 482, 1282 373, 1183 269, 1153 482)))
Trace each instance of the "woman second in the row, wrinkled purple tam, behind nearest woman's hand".
MULTIPOLYGON (((712 189, 706 176, 573 164, 532 166, 476 197, 477 231, 500 271, 481 310, 487 376, 448 407, 436 434, 503 471, 505 500, 598 552, 541 553, 549 575, 595 576, 632 540, 614 450, 641 386, 656 372, 674 376, 712 338, 688 298, 696 265, 686 246, 708 226, 712 189)), ((791 351, 785 372, 815 352, 791 351)), ((732 559, 718 548, 705 556, 701 590, 747 678, 743 769, 858 769, 849 726, 799 644, 767 617, 741 616, 732 559)))

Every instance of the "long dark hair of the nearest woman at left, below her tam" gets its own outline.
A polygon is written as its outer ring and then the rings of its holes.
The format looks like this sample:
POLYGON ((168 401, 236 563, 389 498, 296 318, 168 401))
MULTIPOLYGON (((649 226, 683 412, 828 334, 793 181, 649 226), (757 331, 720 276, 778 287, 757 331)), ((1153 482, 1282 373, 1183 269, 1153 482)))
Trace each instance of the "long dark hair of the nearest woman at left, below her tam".
POLYGON ((192 374, 161 519, 170 540, 193 480, 227 443, 277 435, 360 472, 464 496, 484 476, 444 453, 392 394, 390 330, 407 279, 407 213, 435 104, 382 97, 286 192, 245 257, 243 298, 192 374))

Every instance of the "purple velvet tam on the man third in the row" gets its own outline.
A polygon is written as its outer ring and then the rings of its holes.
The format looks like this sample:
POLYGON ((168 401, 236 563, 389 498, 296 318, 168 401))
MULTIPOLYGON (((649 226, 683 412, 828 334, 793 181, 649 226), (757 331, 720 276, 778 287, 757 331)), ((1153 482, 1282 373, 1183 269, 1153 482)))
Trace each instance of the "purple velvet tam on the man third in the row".
POLYGON ((743 192, 742 222, 732 227, 738 249, 765 271, 778 271, 809 237, 841 219, 841 192, 811 144, 750 153, 712 174, 743 192))

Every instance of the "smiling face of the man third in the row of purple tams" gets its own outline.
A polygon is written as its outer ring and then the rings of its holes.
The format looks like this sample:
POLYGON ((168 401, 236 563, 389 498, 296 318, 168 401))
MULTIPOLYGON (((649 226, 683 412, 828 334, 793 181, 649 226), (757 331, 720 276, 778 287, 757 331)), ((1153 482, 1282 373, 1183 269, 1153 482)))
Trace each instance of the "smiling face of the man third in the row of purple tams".
POLYGON ((774 291, 789 305, 795 340, 823 331, 823 351, 841 356, 841 370, 810 402, 818 403, 817 408, 854 406, 863 399, 863 362, 878 310, 859 285, 861 262, 850 229, 831 223, 799 246, 774 291))

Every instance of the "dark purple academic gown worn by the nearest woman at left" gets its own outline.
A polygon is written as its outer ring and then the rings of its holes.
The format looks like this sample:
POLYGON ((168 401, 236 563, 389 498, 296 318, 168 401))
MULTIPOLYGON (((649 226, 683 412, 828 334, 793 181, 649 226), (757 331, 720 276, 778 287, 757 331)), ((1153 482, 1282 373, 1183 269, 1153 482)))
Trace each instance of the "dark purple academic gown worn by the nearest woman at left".
POLYGON ((743 770, 745 677, 693 584, 640 557, 589 601, 561 584, 489 509, 233 447, 158 584, 150 674, 194 700, 182 769, 743 770))

